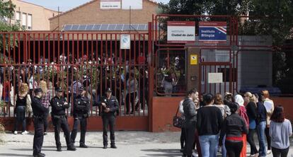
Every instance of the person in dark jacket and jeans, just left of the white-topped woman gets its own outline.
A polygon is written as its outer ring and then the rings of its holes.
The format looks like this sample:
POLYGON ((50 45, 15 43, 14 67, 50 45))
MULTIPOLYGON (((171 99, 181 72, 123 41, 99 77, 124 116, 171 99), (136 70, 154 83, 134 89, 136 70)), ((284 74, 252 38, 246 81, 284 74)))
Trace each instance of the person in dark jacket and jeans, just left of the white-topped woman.
POLYGON ((255 100, 257 105, 256 131, 258 133, 258 142, 260 146, 258 156, 263 157, 267 156, 267 150, 265 149, 265 125, 267 120, 267 112, 265 110, 265 106, 263 105, 263 101, 258 94, 255 94, 255 100))

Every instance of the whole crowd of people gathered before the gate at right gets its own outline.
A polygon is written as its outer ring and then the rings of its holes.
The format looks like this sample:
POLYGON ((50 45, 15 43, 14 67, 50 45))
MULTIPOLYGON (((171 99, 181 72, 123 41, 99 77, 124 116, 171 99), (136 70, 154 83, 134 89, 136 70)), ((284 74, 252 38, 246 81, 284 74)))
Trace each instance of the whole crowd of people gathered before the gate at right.
POLYGON ((220 93, 202 94, 199 98, 197 89, 188 91, 179 103, 184 120, 180 136, 183 156, 216 157, 221 148, 222 156, 246 157, 247 142, 251 157, 269 153, 287 156, 292 125, 285 119, 284 108, 275 107, 269 96, 268 91, 261 91, 247 92, 244 98, 231 93, 225 93, 224 98, 220 93), (255 132, 259 149, 255 146, 255 132), (193 153, 195 146, 197 153, 193 153))

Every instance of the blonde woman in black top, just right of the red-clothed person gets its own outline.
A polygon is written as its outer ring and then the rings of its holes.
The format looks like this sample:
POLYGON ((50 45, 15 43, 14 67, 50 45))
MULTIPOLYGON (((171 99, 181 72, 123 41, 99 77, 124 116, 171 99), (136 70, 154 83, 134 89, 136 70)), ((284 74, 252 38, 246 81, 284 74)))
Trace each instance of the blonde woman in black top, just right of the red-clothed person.
POLYGON ((257 106, 255 101, 255 95, 250 92, 244 94, 244 101, 247 103, 246 112, 249 120, 249 132, 247 136, 248 144, 251 145, 251 157, 258 155, 258 149, 256 149, 254 142, 254 135, 256 132, 256 117, 257 117, 257 106))

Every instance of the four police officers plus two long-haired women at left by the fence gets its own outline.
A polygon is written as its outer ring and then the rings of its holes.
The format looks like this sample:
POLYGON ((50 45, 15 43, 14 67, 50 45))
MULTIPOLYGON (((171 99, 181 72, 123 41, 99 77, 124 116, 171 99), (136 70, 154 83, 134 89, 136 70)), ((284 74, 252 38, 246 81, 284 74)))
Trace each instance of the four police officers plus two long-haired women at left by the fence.
MULTIPOLYGON (((81 137, 79 141, 80 148, 88 148, 85 144, 86 127, 88 112, 90 110, 90 101, 86 97, 86 88, 84 86, 79 87, 78 94, 74 98, 73 103, 73 117, 74 124, 73 129, 69 130, 69 124, 67 121, 67 109, 69 103, 67 98, 64 97, 64 92, 61 87, 55 88, 56 95, 54 98, 50 98, 50 93, 47 91, 47 84, 45 81, 40 81, 39 88, 35 88, 32 98, 28 93, 28 84, 21 83, 18 95, 16 95, 16 122, 14 127, 14 134, 18 134, 18 124, 22 124, 22 134, 27 134, 25 131, 25 115, 33 112, 33 123, 35 127, 35 135, 33 139, 33 156, 42 157, 45 156, 41 153, 42 143, 44 135, 47 134, 47 116, 49 115, 49 107, 52 107, 51 117, 52 124, 54 126, 54 138, 56 141, 57 151, 62 151, 60 143, 60 131, 64 132, 64 136, 67 143, 68 151, 76 151, 74 146, 77 129, 81 127, 81 137)), ((110 141, 111 148, 116 149, 115 146, 115 113, 118 110, 118 101, 115 96, 112 95, 110 88, 105 91, 105 96, 102 97, 100 108, 102 110, 103 119, 103 148, 107 149, 108 146, 108 126, 110 126, 110 141)))

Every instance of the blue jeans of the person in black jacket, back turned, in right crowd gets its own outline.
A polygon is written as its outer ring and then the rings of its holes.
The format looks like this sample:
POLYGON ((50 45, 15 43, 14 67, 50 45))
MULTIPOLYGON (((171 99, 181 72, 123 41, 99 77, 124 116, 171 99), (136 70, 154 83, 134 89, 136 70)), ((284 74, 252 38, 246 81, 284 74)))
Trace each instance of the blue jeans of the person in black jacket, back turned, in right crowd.
POLYGON ((202 149, 202 157, 216 157, 218 144, 218 134, 200 136, 200 149, 202 149))

